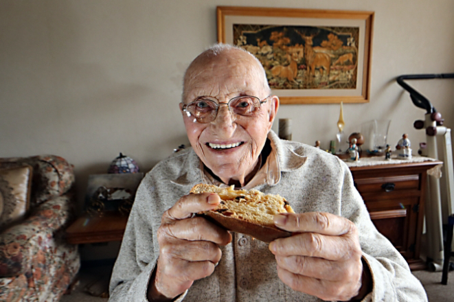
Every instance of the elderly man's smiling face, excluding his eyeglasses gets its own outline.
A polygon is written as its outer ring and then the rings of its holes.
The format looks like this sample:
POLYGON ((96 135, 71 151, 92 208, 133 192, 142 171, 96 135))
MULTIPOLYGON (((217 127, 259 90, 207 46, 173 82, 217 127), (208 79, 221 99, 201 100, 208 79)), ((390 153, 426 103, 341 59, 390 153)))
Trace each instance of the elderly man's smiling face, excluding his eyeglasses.
MULTIPOLYGON (((264 100, 268 91, 263 82, 253 58, 242 51, 229 51, 189 71, 183 102, 189 104, 197 97, 214 97, 219 103, 227 103, 240 95, 264 100)), ((245 185, 245 178, 258 163, 278 106, 279 99, 273 96, 251 117, 231 115, 227 106, 220 106, 216 119, 210 123, 201 124, 185 112, 183 120, 192 148, 203 163, 224 183, 236 180, 245 185), (218 145, 233 146, 216 148, 218 145)))

